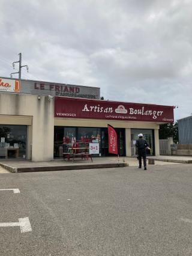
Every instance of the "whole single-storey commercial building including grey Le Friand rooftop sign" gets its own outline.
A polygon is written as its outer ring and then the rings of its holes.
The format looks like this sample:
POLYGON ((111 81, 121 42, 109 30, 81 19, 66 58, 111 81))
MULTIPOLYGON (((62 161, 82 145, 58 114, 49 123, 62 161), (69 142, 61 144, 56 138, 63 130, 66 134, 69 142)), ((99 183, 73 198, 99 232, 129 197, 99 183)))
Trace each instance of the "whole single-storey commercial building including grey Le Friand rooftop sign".
POLYGON ((119 156, 134 155, 138 133, 158 156, 159 125, 172 122, 172 106, 100 100, 97 87, 0 78, 0 159, 53 160, 74 141, 109 156, 107 124, 119 156))

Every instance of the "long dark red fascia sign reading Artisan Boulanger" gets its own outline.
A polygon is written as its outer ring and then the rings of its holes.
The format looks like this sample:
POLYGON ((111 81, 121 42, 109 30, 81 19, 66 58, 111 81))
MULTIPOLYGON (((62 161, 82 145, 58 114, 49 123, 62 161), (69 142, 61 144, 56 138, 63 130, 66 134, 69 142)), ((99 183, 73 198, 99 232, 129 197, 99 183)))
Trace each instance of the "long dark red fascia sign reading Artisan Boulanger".
POLYGON ((55 117, 172 123, 173 106, 55 97, 55 117))

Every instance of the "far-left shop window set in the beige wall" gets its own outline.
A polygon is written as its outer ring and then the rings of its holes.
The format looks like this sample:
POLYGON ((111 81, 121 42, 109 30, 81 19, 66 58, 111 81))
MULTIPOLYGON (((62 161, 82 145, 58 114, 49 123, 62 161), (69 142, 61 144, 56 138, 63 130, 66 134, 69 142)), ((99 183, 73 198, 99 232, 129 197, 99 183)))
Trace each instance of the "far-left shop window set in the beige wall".
POLYGON ((0 158, 26 159, 26 126, 0 125, 0 158))

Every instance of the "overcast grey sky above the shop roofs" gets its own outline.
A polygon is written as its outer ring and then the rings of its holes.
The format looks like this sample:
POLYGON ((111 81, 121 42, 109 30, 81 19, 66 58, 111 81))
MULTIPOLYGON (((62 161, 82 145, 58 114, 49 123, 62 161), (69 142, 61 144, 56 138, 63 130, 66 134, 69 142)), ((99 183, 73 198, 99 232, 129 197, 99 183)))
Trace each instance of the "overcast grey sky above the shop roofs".
POLYGON ((191 0, 0 0, 0 76, 101 88, 191 115, 191 0), (17 77, 17 76, 15 76, 17 77))

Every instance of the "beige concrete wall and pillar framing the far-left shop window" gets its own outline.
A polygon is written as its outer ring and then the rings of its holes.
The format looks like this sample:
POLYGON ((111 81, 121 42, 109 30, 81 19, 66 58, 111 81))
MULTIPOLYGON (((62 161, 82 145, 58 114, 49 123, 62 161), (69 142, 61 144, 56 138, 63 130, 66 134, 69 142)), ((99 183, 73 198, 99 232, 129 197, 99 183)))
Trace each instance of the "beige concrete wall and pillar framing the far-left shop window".
POLYGON ((1 93, 0 124, 28 126, 28 159, 53 160, 54 99, 1 93))

